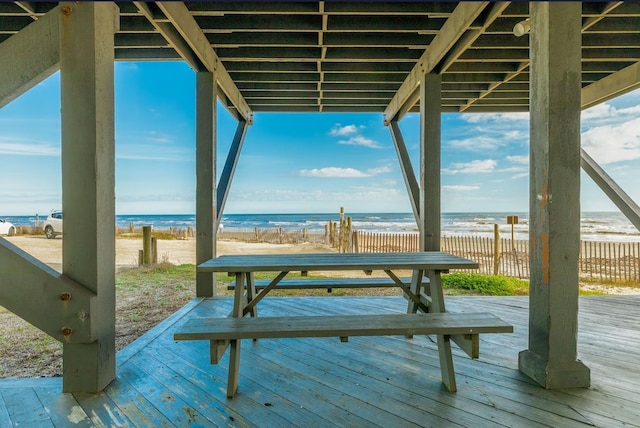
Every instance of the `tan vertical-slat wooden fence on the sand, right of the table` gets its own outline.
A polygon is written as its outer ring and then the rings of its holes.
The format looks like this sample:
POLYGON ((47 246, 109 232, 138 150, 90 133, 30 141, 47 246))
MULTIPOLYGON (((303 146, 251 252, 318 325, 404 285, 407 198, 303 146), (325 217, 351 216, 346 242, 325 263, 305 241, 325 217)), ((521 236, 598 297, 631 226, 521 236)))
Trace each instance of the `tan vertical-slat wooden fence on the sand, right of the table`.
MULTIPOLYGON (((358 246, 355 251, 415 252, 418 251, 416 233, 374 233, 357 231, 358 246)), ((479 263, 483 275, 499 274, 517 278, 529 278, 529 241, 500 238, 499 255, 495 259, 493 238, 479 236, 443 237, 440 248, 451 254, 466 257, 479 263), (497 270, 496 270, 497 267, 497 270)), ((639 242, 581 241, 579 258, 580 275, 609 282, 640 282, 639 242)))

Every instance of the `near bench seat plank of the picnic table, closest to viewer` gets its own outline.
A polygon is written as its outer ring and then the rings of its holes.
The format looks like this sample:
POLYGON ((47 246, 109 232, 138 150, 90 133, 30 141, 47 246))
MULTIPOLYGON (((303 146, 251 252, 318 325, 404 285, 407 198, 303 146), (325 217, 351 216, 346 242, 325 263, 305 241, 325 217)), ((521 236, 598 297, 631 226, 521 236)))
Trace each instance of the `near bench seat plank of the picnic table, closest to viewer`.
POLYGON ((175 340, 349 337, 511 333, 513 326, 488 313, 195 318, 175 340))

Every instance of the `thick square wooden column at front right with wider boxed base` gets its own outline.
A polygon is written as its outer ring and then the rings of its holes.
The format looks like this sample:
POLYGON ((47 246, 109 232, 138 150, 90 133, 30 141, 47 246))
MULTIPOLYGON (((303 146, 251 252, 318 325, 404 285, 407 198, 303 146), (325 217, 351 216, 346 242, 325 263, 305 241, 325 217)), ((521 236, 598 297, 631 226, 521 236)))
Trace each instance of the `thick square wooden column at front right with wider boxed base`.
POLYGON ((520 370, 545 388, 588 387, 577 360, 581 4, 532 2, 529 349, 520 370))

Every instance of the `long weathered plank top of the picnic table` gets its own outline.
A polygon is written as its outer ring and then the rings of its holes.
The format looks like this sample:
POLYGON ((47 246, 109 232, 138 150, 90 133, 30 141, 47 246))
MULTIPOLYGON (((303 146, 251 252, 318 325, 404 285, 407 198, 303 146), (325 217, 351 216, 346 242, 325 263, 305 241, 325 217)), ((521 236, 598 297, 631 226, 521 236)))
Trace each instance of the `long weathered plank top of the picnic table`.
POLYGON ((477 269, 478 263, 440 251, 418 253, 314 253, 225 255, 198 265, 200 272, 314 270, 477 269))

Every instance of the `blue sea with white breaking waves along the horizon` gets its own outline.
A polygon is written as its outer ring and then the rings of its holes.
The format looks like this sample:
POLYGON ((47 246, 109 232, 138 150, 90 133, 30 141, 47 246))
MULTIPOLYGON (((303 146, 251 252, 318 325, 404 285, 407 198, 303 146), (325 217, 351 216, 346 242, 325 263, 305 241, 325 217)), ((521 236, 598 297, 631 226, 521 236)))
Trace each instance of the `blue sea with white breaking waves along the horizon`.
MULTIPOLYGON (((1 214, 0 214, 1 215, 1 214)), ((356 230, 385 233, 417 232, 411 213, 346 213, 352 219, 356 230)), ((507 215, 518 216, 514 226, 516 239, 528 239, 528 213, 443 213, 443 236, 486 236, 493 237, 493 225, 498 224, 503 237, 510 237, 511 226, 507 215)), ((640 232, 619 212, 584 212, 581 219, 581 238, 591 241, 640 242, 640 232)), ((33 226, 34 216, 8 216, 5 218, 16 226, 33 226)), ((42 221, 46 215, 40 215, 42 221)), ((233 229, 302 229, 324 231, 329 220, 338 221, 339 214, 225 214, 222 224, 225 230, 233 229)), ((126 228, 130 223, 135 227, 152 225, 155 229, 169 227, 195 227, 194 214, 145 214, 117 215, 116 224, 126 228)))

